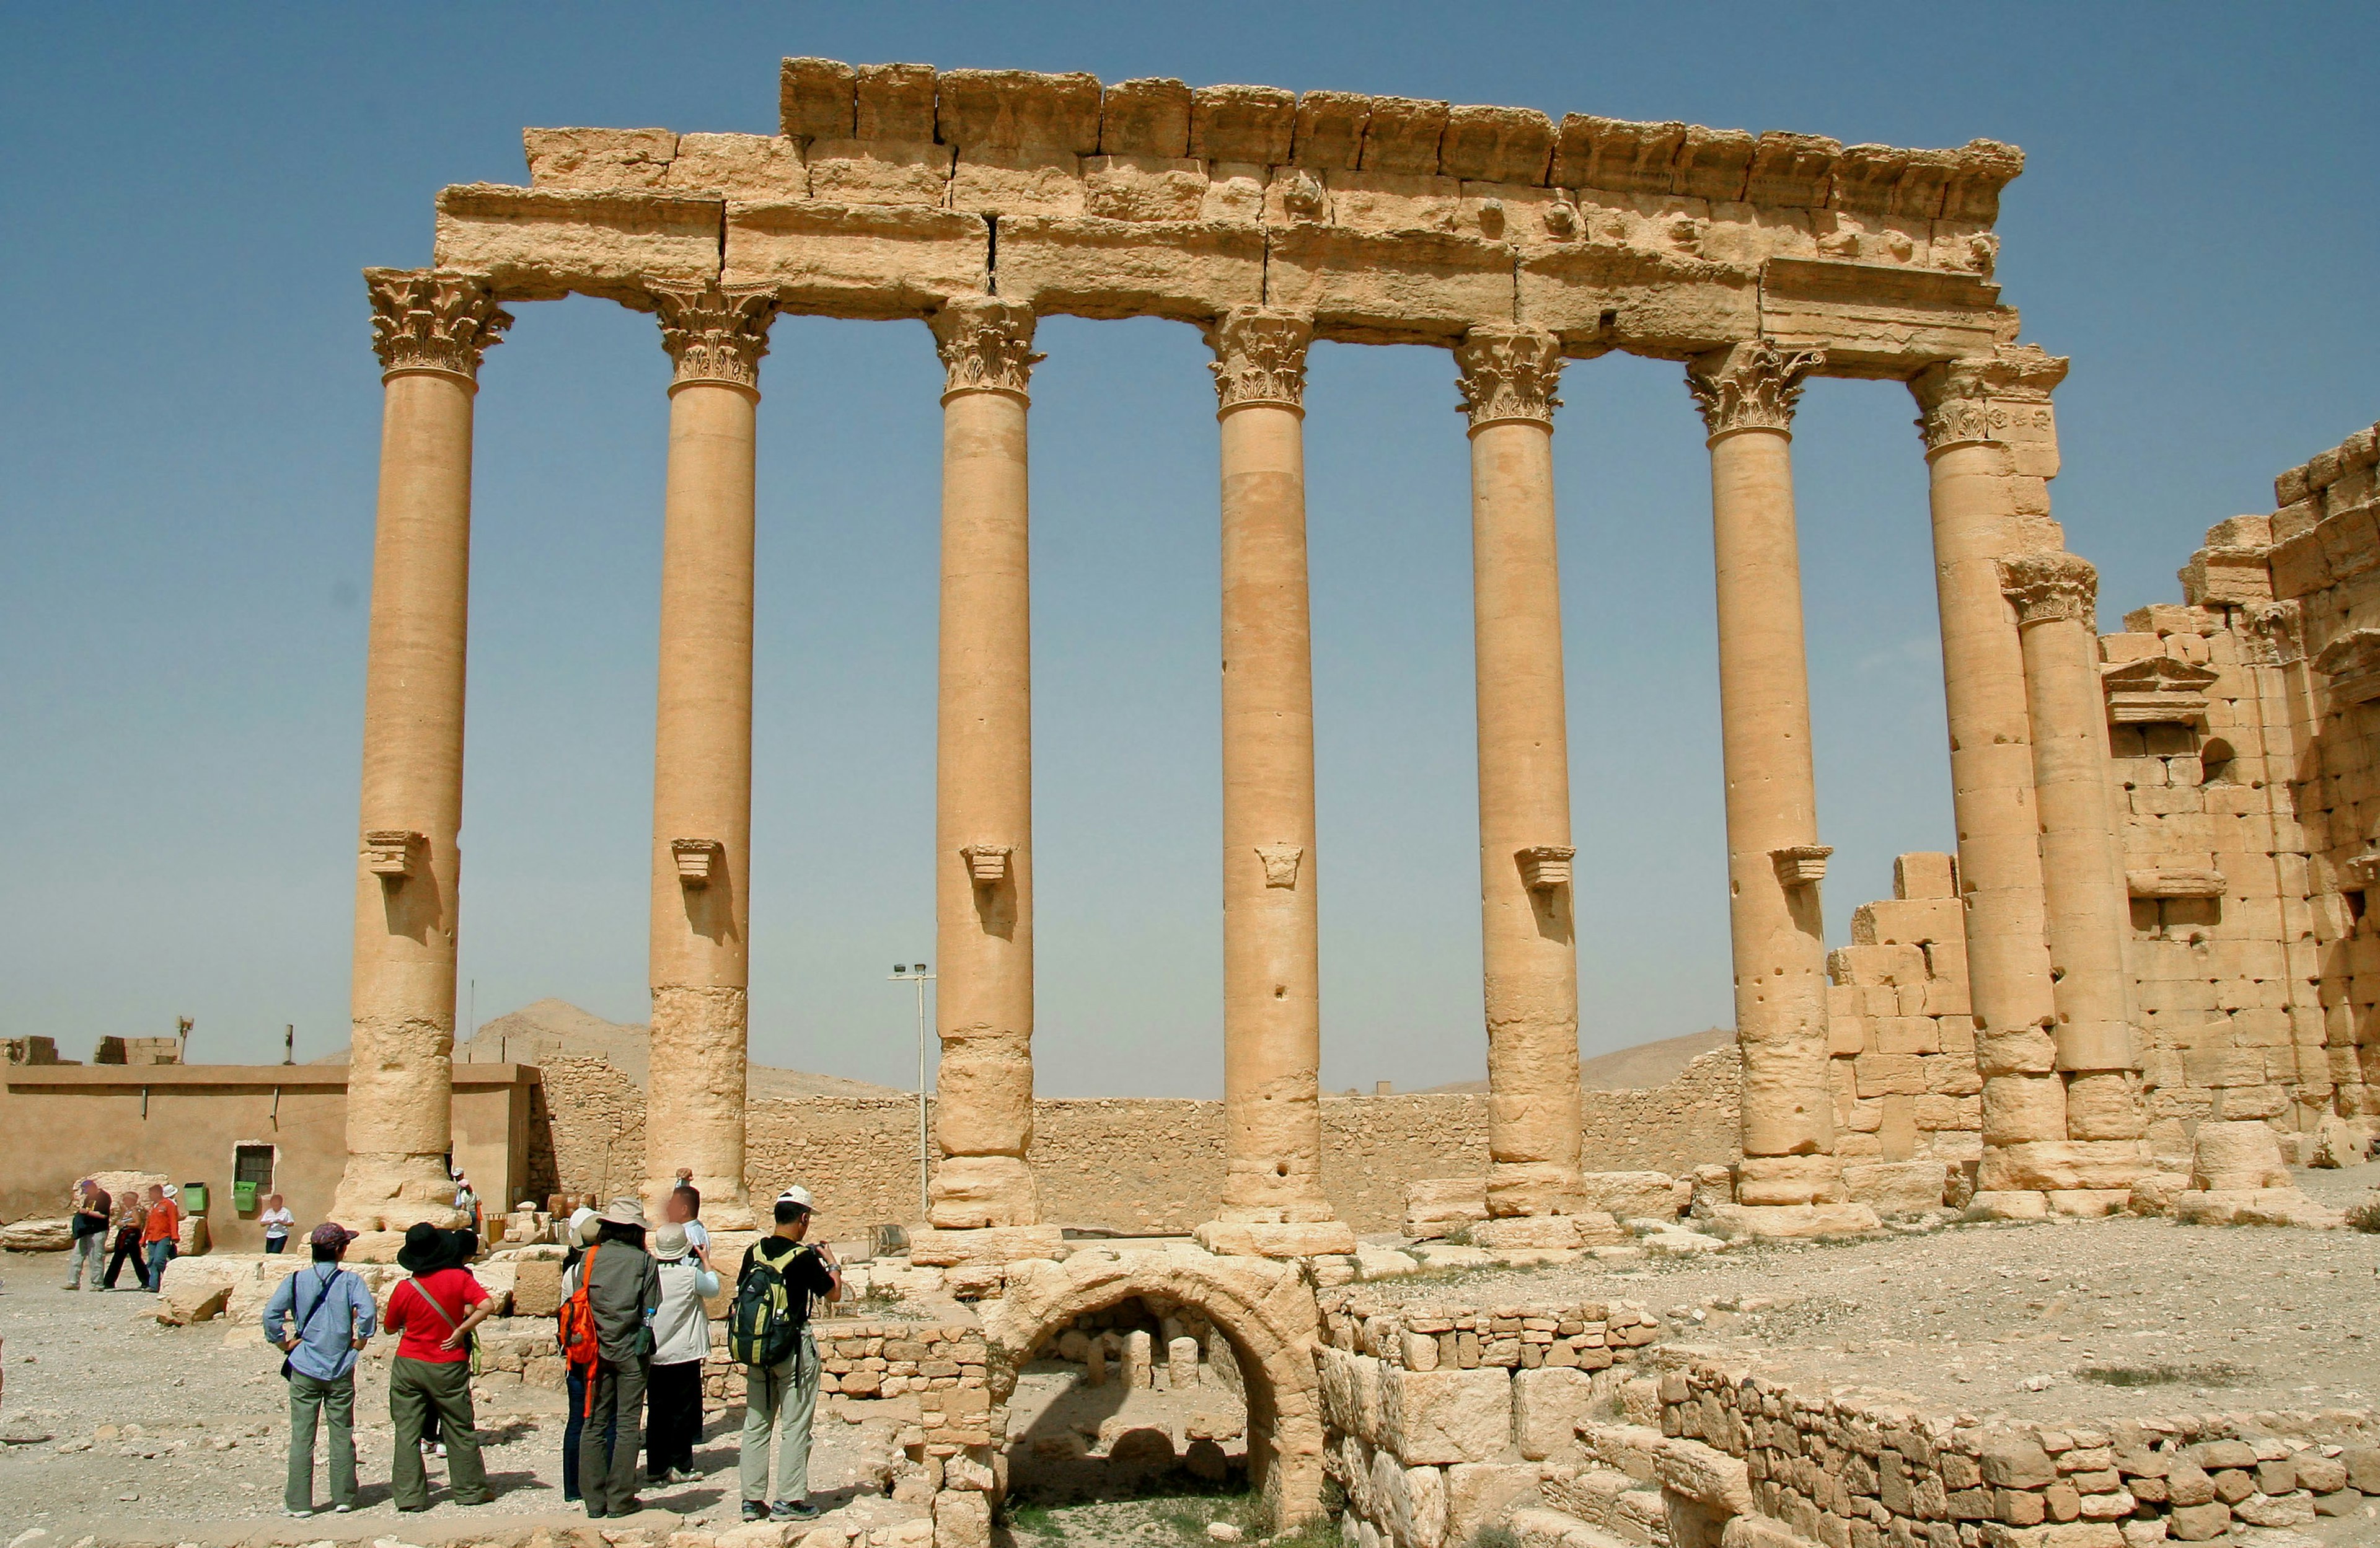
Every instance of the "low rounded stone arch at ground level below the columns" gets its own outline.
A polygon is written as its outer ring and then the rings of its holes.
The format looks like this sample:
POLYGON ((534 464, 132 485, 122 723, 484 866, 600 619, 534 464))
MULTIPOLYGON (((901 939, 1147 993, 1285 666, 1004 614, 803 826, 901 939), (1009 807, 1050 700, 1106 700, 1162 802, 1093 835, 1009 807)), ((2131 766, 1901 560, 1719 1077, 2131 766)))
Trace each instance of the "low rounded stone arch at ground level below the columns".
POLYGON ((1323 1405, 1314 1351, 1326 1327, 1297 1263, 1195 1248, 1085 1248, 1064 1263, 1016 1263, 1007 1294, 981 1308, 992 1401, 1007 1403, 1016 1367, 1054 1327, 1128 1296, 1178 1301, 1230 1339, 1247 1384, 1250 1489, 1280 1527, 1319 1515, 1323 1405))

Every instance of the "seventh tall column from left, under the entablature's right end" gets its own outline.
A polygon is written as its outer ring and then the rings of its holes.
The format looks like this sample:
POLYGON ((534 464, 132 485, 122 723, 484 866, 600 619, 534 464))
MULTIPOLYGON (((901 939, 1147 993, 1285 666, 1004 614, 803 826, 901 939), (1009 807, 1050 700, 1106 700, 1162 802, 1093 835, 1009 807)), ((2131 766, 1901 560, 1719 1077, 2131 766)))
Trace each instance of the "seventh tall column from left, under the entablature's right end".
POLYGON ((1999 575, 2006 554, 2033 547, 2021 523, 2049 511, 2049 388, 2063 371, 2063 359, 2040 350, 2004 350, 1933 366, 1911 383, 1933 483, 1952 816, 1983 1075, 1978 1187, 1987 1194, 2063 1187, 2035 1165, 2042 1153, 2028 1151, 2066 1139, 2066 1084, 2049 1032, 2056 1001, 2025 656, 1999 575))

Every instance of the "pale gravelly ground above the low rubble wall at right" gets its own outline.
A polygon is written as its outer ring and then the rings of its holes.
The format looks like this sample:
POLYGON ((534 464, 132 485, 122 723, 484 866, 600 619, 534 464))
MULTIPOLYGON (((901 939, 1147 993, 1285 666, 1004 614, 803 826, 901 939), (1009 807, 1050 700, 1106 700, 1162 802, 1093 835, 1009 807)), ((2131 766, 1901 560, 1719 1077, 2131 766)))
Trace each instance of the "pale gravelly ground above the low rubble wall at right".
MULTIPOLYGON (((2361 1203, 2380 1165, 2299 1172, 2361 1203)), ((2163 1220, 1954 1225, 1642 1265, 1457 1270, 1395 1301, 1635 1301, 1664 1341, 1944 1415, 2380 1410, 2380 1236, 2163 1220)))

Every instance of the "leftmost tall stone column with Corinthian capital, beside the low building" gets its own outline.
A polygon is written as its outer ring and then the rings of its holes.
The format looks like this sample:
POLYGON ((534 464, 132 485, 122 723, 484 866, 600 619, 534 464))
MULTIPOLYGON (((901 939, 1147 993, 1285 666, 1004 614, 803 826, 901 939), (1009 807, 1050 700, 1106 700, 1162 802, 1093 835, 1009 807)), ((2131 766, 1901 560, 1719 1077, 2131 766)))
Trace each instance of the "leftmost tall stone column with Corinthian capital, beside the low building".
POLYGON ((462 687, 471 575, 471 395, 507 316, 488 281, 367 269, 381 357, 381 499, 364 659, 364 789, 355 875, 350 1229, 455 1225, 455 930, 462 861, 462 687))

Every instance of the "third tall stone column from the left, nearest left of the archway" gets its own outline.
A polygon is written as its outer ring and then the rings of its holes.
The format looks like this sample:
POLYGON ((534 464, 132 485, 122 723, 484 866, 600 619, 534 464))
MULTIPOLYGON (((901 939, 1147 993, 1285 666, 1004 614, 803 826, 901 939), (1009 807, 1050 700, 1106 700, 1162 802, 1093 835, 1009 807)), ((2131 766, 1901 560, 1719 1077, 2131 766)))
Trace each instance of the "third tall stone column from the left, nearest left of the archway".
POLYGON ((1040 1220, 1033 1144, 1033 609, 1026 385, 1033 309, 933 314, 942 392, 942 654, 935 720, 938 1227, 1040 1220))

